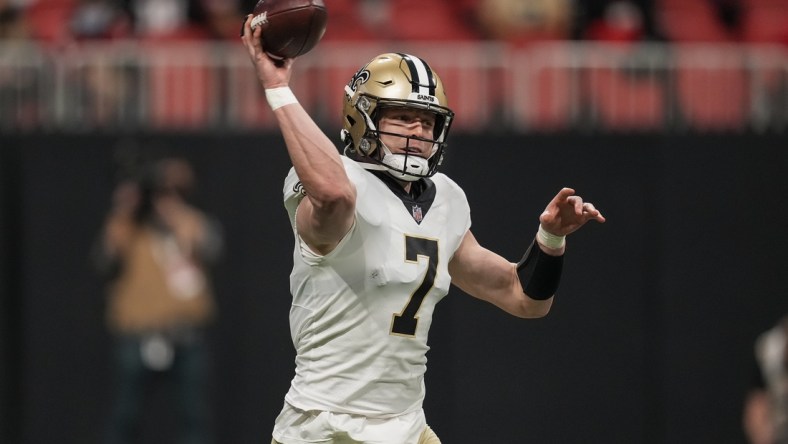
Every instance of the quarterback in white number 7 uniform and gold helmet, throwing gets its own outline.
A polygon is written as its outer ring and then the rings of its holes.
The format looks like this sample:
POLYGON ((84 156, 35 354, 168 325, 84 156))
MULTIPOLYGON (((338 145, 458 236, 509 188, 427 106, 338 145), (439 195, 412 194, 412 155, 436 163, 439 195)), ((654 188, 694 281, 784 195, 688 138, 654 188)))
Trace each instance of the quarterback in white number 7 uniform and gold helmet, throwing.
POLYGON ((345 87, 340 154, 289 89, 293 60, 267 56, 250 23, 242 39, 293 164, 284 203, 296 369, 273 442, 439 443, 422 402, 432 314, 450 284, 544 316, 566 235, 605 219, 564 188, 520 262, 483 248, 464 192, 437 171, 454 113, 426 62, 387 53, 359 69, 345 87))

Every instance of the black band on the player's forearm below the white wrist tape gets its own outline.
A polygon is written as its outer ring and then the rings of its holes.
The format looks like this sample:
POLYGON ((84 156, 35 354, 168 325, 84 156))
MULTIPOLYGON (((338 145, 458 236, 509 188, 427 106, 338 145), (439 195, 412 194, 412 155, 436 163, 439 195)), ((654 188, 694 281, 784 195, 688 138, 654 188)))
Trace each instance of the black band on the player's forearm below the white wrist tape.
POLYGON ((563 268, 563 254, 551 256, 542 251, 534 240, 517 263, 517 274, 525 294, 531 299, 543 301, 550 299, 558 290, 563 268))

